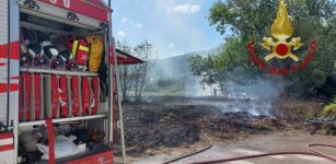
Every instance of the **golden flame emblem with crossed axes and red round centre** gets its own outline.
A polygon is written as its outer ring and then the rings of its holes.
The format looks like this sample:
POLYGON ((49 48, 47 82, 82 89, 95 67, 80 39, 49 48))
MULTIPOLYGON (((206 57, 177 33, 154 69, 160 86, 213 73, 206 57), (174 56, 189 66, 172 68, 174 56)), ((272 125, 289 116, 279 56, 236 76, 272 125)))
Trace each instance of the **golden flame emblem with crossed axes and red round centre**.
POLYGON ((285 0, 280 0, 280 7, 277 13, 277 19, 271 25, 270 33, 277 38, 277 42, 274 42, 271 37, 264 37, 264 43, 262 46, 271 50, 273 52, 265 57, 265 60, 268 61, 273 58, 287 59, 291 58, 294 61, 299 61, 299 57, 293 55, 291 51, 297 50, 302 46, 301 37, 291 38, 288 43, 288 38, 293 35, 293 26, 290 22, 289 14, 287 11, 287 4, 285 0))

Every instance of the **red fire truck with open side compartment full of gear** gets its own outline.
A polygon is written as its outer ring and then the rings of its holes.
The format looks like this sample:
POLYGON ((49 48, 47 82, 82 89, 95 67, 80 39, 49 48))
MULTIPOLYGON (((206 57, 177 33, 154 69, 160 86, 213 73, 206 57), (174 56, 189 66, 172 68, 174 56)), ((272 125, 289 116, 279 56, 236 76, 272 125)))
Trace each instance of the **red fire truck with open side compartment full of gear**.
POLYGON ((1 1, 0 163, 113 163, 115 70, 141 60, 114 49, 112 12, 101 0, 1 1))

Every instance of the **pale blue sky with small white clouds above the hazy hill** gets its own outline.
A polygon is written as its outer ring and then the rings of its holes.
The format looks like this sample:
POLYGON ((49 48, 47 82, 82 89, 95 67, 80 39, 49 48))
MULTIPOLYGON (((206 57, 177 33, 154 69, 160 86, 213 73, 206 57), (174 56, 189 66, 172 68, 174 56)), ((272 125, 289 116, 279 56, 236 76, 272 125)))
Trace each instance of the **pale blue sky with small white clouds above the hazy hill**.
POLYGON ((161 58, 215 48, 223 36, 209 26, 213 0, 112 0, 113 33, 136 46, 144 39, 161 58))

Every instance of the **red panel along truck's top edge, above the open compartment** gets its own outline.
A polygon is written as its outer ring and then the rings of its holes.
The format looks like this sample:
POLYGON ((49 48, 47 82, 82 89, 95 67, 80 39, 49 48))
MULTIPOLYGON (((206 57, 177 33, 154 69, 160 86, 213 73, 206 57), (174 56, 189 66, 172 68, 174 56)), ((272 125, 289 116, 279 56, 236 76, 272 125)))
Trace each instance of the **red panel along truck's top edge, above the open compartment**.
POLYGON ((112 13, 112 10, 103 5, 102 2, 96 0, 68 0, 69 3, 65 3, 67 0, 39 0, 44 3, 53 4, 58 8, 62 8, 76 13, 83 14, 100 21, 107 22, 107 14, 112 13))

